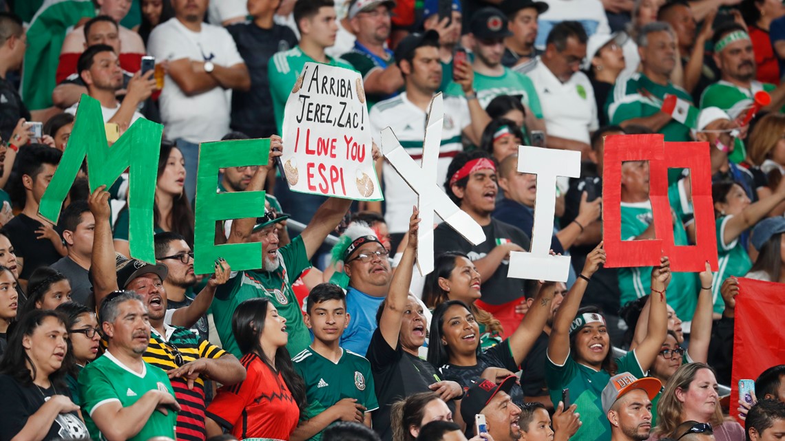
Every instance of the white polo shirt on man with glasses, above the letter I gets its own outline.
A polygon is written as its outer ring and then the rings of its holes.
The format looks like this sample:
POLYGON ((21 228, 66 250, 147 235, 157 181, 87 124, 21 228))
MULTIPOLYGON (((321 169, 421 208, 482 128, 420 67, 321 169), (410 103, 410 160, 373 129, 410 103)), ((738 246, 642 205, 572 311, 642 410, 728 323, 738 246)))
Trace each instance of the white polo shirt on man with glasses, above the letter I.
POLYGON ((542 60, 538 60, 528 76, 535 83, 548 134, 589 144, 589 132, 599 126, 597 102, 589 78, 577 71, 568 82, 560 82, 542 60))

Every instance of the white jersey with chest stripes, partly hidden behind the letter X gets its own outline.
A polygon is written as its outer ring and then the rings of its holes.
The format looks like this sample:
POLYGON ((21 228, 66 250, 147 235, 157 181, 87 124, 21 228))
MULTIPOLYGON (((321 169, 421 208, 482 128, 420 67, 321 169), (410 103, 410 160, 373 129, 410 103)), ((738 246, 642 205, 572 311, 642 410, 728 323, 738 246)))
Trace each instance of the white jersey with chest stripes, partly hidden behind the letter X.
MULTIPOLYGON (((444 96, 444 123, 442 126, 442 142, 439 149, 439 161, 436 165, 436 184, 440 188, 447 179, 447 167, 458 152, 463 151, 461 144, 462 131, 471 124, 469 104, 466 98, 444 96)), ((385 127, 400 141, 403 148, 419 165, 422 161, 422 140, 425 138, 425 111, 407 99, 406 93, 377 103, 371 108, 368 118, 371 120, 371 134, 376 144, 381 145, 380 133, 385 127)), ((400 177, 395 169, 385 162, 382 169, 385 182, 385 221, 391 233, 402 233, 409 228, 411 206, 417 204, 417 194, 409 184, 400 177)))

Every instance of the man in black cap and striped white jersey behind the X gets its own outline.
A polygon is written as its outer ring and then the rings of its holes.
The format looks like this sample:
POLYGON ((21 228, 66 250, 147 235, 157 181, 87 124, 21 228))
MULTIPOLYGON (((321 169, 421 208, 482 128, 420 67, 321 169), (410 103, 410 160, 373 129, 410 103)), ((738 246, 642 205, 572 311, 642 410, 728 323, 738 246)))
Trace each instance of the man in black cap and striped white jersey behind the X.
MULTIPOLYGON (((440 64, 436 62, 438 58, 439 35, 436 31, 409 35, 398 44, 395 59, 403 74, 406 89, 399 96, 382 101, 371 109, 368 118, 376 144, 380 144, 379 133, 382 129, 390 127, 403 145, 422 146, 427 111, 442 75, 440 64)), ((465 64, 458 69, 462 72, 461 87, 471 92, 471 66, 465 64)), ((490 122, 476 96, 469 94, 469 98, 444 97, 444 108, 451 109, 445 112, 444 118, 451 123, 445 123, 441 133, 436 182, 442 182, 447 177, 451 158, 463 150, 460 137, 465 135, 473 144, 480 144, 483 129, 490 122)), ((420 159, 422 147, 407 148, 407 153, 414 159, 420 159)), ((395 244, 401 241, 407 231, 406 213, 417 201, 417 195, 387 162, 382 166, 382 179, 385 185, 385 220, 395 244)))

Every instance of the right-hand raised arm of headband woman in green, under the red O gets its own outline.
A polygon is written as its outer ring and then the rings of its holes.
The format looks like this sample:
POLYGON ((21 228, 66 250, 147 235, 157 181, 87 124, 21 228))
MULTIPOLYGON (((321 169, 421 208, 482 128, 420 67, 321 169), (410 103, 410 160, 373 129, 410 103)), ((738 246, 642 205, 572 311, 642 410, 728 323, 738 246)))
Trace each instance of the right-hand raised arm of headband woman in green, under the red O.
POLYGON ((649 296, 648 329, 646 337, 635 348, 635 356, 646 372, 654 363, 659 350, 663 348, 668 333, 668 310, 665 291, 670 283, 670 261, 660 258, 660 266, 652 268, 652 294, 649 296))

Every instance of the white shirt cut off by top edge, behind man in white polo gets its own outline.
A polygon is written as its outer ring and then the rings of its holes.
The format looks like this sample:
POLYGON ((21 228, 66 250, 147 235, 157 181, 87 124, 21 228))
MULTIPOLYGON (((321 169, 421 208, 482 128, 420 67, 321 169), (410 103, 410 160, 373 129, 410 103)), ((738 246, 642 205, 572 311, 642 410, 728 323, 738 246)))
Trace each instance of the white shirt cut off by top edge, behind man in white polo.
POLYGON ((554 26, 564 20, 575 20, 581 22, 586 35, 590 37, 594 34, 610 34, 611 27, 608 26, 608 16, 605 16, 605 9, 600 0, 544 0, 548 4, 548 10, 540 14, 537 19, 539 30, 535 47, 540 50, 545 49, 546 38, 554 26))

